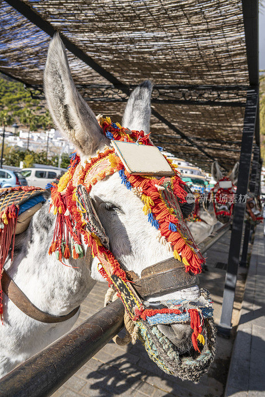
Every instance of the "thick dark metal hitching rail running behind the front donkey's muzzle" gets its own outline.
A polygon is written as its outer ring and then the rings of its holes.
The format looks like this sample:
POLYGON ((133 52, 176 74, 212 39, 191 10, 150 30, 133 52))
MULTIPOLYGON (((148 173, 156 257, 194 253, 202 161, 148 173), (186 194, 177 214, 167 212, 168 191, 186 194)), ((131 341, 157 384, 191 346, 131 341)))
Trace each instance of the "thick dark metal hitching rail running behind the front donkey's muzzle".
MULTIPOLYGON (((230 228, 222 226, 199 244, 205 253, 230 228)), ((0 379, 0 397, 49 397, 123 328, 120 299, 30 357, 0 379)))

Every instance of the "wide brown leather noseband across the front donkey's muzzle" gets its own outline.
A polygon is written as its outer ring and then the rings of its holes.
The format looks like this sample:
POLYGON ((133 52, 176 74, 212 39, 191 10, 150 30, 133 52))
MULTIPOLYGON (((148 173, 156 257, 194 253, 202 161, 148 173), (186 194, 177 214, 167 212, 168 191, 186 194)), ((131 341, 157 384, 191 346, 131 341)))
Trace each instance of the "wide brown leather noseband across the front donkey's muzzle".
POLYGON ((133 287, 142 298, 199 284, 199 277, 186 272, 183 263, 175 258, 146 267, 142 270, 140 278, 133 271, 128 273, 133 287))

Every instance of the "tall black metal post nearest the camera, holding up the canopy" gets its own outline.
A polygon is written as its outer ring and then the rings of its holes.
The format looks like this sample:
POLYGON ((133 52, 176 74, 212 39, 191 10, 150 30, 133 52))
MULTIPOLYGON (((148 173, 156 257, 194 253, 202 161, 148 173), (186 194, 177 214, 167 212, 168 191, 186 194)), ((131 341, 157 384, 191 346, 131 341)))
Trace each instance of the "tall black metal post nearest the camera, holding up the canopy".
POLYGON ((247 92, 242 145, 239 160, 239 173, 237 183, 237 201, 234 206, 231 240, 228 254, 227 272, 225 278, 221 321, 218 327, 221 333, 230 334, 232 310, 235 299, 237 270, 241 247, 241 238, 246 210, 245 199, 247 195, 250 175, 251 154, 255 123, 259 99, 258 87, 249 88, 247 92))

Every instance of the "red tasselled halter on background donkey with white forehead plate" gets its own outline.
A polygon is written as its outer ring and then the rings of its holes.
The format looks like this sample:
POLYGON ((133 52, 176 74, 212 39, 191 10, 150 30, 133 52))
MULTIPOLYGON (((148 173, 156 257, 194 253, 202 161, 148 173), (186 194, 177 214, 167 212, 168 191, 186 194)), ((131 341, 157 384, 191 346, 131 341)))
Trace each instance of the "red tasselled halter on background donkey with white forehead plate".
POLYGON ((225 211, 223 209, 218 210, 218 208, 216 208, 216 203, 222 205, 226 202, 230 202, 229 199, 233 199, 235 195, 235 186, 233 185, 232 181, 228 177, 223 177, 210 190, 210 195, 212 197, 213 208, 216 218, 219 220, 222 217, 229 217, 230 219, 233 214, 234 202, 232 201, 229 211, 225 211), (231 187, 222 187, 222 183, 223 185, 225 185, 225 183, 228 182, 231 182, 231 187))

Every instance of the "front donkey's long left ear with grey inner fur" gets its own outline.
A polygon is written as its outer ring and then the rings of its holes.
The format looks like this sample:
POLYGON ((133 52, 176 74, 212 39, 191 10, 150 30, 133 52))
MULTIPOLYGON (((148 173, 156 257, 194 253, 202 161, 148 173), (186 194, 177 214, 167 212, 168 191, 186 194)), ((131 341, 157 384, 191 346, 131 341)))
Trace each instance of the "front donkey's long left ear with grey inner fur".
POLYGON ((74 85, 66 50, 58 34, 49 46, 44 90, 49 111, 59 130, 78 151, 90 155, 104 139, 103 131, 74 85))

